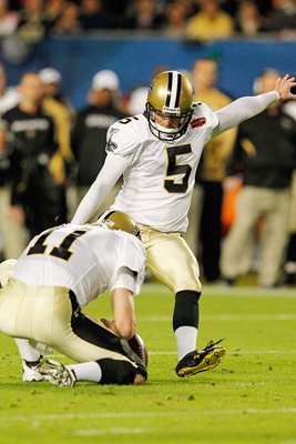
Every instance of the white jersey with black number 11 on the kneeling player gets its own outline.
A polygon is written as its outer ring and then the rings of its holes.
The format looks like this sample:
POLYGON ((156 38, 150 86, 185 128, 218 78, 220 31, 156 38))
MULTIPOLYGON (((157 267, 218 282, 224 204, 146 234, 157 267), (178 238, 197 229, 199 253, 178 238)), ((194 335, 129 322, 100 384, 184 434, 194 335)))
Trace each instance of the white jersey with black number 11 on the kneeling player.
POLYGON ((13 278, 29 285, 71 289, 84 306, 106 289, 116 286, 119 272, 136 273, 134 294, 145 272, 145 250, 139 239, 123 231, 94 225, 61 225, 43 231, 17 261, 13 278))

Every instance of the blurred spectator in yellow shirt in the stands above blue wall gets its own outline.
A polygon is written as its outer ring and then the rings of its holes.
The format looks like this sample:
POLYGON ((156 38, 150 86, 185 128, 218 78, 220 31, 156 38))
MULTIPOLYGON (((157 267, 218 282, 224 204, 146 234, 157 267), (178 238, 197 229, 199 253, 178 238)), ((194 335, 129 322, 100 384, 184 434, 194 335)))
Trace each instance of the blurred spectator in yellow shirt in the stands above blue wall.
POLYGON ((198 0, 200 10, 187 22, 187 39, 227 39, 234 34, 234 19, 223 11, 220 0, 198 0))

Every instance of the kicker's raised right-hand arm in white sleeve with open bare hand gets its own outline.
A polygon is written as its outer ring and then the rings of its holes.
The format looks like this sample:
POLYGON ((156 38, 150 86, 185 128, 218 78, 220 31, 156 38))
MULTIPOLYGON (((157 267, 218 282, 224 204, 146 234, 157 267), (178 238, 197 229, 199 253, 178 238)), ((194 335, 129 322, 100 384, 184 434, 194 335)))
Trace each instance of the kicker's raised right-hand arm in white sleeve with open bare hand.
POLYGON ((296 94, 290 92, 293 87, 296 87, 295 78, 286 74, 277 79, 273 91, 255 97, 237 99, 227 107, 216 111, 218 125, 213 131, 212 139, 229 128, 242 123, 244 120, 259 114, 273 102, 296 99, 296 94))

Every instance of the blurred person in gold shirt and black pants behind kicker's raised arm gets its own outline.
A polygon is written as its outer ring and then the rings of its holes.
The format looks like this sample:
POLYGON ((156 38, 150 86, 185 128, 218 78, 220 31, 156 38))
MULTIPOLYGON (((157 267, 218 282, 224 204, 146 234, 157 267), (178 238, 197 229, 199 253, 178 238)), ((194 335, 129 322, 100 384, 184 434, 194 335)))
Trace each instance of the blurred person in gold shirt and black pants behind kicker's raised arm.
MULTIPOLYGON (((206 103, 214 111, 232 102, 232 99, 216 87, 218 65, 215 60, 208 58, 196 60, 192 80, 195 100, 206 103)), ((185 239, 196 258, 201 260, 207 282, 215 282, 221 278, 223 180, 235 135, 236 129, 233 128, 205 144, 188 212, 188 230, 185 239)))

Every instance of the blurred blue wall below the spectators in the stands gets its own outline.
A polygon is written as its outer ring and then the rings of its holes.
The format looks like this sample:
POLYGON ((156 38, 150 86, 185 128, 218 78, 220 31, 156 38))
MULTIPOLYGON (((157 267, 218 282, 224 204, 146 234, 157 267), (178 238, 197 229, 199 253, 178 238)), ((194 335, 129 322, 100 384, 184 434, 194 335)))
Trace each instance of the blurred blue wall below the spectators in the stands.
POLYGON ((220 40, 201 44, 160 37, 82 37, 52 38, 29 48, 17 40, 1 48, 8 83, 17 84, 23 72, 44 67, 57 68, 62 74, 62 90, 74 109, 85 103, 93 74, 102 69, 114 70, 122 92, 150 83, 155 67, 191 70, 201 57, 220 62, 218 88, 236 99, 252 94, 253 79, 266 68, 284 73, 296 72, 296 42, 268 40, 220 40))

